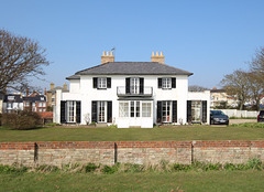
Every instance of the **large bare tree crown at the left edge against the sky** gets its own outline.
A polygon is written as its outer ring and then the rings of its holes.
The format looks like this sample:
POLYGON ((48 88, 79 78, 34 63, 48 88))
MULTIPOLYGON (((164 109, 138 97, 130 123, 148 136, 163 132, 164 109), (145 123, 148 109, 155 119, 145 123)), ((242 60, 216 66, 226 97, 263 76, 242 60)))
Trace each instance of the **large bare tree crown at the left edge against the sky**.
POLYGON ((48 64, 37 42, 0 29, 0 92, 21 90, 29 85, 28 77, 44 75, 48 64))

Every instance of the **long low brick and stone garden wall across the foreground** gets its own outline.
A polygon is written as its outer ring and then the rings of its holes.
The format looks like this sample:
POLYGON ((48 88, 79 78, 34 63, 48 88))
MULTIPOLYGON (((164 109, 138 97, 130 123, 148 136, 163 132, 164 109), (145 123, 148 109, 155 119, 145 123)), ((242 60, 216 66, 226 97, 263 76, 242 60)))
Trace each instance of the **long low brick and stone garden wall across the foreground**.
POLYGON ((0 142, 0 164, 264 162, 264 141, 0 142))

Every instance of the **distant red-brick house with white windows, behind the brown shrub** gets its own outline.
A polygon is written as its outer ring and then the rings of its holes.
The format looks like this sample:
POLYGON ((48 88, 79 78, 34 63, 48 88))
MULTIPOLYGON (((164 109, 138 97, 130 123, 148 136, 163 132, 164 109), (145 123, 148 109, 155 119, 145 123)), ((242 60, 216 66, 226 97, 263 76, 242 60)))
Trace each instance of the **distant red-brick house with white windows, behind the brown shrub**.
POLYGON ((24 110, 44 113, 47 109, 46 96, 36 90, 29 95, 29 90, 26 90, 26 96, 23 97, 23 106, 24 110))

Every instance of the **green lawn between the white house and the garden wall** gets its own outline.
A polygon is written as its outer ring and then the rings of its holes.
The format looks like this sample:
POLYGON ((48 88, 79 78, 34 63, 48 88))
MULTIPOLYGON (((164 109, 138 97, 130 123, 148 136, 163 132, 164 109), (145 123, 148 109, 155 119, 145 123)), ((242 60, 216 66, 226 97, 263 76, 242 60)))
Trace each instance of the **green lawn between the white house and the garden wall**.
POLYGON ((165 140, 263 140, 264 128, 178 126, 153 129, 65 128, 8 130, 0 127, 0 142, 8 141, 165 141, 165 140))

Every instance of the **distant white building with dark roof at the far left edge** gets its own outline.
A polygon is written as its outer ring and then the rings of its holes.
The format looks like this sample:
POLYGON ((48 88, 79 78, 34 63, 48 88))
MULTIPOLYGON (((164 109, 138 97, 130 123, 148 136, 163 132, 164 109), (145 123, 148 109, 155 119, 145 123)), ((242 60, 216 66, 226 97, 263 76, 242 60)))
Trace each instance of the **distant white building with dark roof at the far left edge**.
POLYGON ((14 110, 23 110, 23 98, 21 94, 8 94, 3 99, 3 113, 12 113, 14 110))

